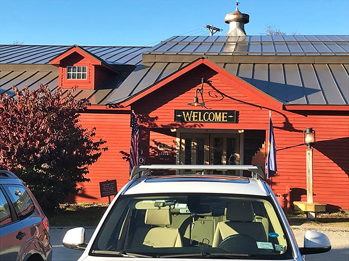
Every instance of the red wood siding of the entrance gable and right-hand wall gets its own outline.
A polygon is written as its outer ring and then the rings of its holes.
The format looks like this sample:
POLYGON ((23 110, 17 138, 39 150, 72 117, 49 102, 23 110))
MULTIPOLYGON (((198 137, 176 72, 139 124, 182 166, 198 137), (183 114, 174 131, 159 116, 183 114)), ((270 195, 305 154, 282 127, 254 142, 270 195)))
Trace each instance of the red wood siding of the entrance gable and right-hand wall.
MULTIPOLYGON (((251 99, 242 94, 241 88, 244 88, 243 84, 237 84, 234 81, 227 82, 226 78, 220 74, 200 67, 134 102, 132 108, 143 119, 143 125, 151 128, 265 130, 268 129, 269 110, 271 110, 278 150, 278 173, 273 177, 272 184, 275 193, 283 193, 288 185, 293 186, 294 191, 306 189, 306 146, 303 145, 303 130, 306 127, 313 127, 316 131, 314 146, 314 193, 316 195, 314 201, 327 203, 329 208, 339 206, 342 209, 349 209, 349 117, 331 112, 327 112, 328 115, 306 116, 282 111, 281 106, 280 108, 275 106, 272 98, 269 98, 273 102, 270 102, 271 106, 268 106, 265 95, 261 94, 260 100, 251 99), (201 88, 202 76, 209 79, 211 84, 209 86, 204 83, 206 106, 211 110, 237 110, 239 112, 238 123, 174 122, 175 109, 204 109, 187 105, 187 102, 193 100, 196 89, 201 88)), ((163 142, 165 140, 163 139, 163 142)))

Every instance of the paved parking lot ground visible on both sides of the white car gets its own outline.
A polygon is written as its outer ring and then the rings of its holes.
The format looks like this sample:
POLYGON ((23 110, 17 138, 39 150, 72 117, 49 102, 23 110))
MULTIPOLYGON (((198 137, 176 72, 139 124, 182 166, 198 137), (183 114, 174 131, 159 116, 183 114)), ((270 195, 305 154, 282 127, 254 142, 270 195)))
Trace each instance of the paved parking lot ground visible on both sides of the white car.
MULTIPOLYGON (((332 243, 332 250, 324 254, 307 255, 306 260, 338 260, 347 261, 349 257, 349 228, 302 227, 293 226, 297 243, 303 246, 306 230, 317 230, 325 233, 332 243)), ((62 244, 64 234, 69 228, 50 228, 51 244, 53 246, 53 261, 75 261, 83 253, 79 250, 65 248, 62 244)), ((86 240, 92 236, 94 228, 86 228, 86 240)))

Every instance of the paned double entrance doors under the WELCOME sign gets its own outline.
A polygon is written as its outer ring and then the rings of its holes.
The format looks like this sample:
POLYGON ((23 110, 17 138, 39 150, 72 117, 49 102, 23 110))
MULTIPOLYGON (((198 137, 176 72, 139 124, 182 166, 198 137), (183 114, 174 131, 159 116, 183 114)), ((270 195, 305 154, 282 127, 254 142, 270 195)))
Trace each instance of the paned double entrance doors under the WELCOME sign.
MULTIPOLYGON (((237 165, 239 162, 238 134, 181 133, 180 164, 237 165)), ((213 171, 213 173, 225 174, 226 171, 213 171)), ((239 175, 235 171, 229 174, 239 175)))

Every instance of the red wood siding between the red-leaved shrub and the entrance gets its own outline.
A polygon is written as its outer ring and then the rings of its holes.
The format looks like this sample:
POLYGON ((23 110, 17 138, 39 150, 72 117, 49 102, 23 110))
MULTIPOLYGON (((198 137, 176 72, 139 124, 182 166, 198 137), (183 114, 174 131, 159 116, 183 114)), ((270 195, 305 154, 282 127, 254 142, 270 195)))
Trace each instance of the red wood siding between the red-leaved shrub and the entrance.
MULTIPOLYGON (((129 153, 130 115, 82 113, 81 124, 84 128, 96 127, 96 139, 102 138, 108 151, 104 151, 98 162, 89 167, 86 176, 91 181, 78 184, 83 188, 75 197, 75 202, 108 202, 108 197, 101 198, 99 183, 106 180, 117 180, 118 191, 129 181, 129 164, 123 159, 121 151, 129 153)), ((113 197, 111 197, 113 198, 113 197)))

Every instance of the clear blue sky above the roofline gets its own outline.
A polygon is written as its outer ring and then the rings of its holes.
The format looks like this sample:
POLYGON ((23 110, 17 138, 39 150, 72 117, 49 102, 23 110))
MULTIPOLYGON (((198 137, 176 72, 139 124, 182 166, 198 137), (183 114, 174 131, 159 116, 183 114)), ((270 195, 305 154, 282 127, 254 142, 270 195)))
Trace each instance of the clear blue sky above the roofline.
MULTIPOLYGON (((267 25, 286 34, 349 34, 348 0, 240 0, 247 35, 267 25)), ((153 46, 173 35, 228 31, 234 0, 0 0, 0 44, 153 46)), ((218 33, 217 33, 218 34, 218 33)), ((216 34, 216 35, 217 35, 216 34)))

